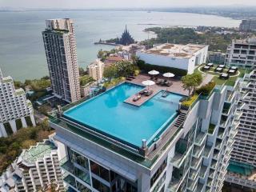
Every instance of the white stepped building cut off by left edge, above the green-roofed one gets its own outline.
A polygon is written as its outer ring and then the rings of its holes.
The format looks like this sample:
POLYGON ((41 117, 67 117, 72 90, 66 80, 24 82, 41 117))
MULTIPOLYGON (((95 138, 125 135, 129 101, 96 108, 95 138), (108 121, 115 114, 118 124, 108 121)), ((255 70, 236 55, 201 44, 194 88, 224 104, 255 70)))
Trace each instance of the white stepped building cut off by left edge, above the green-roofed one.
POLYGON ((24 90, 15 90, 13 79, 3 77, 0 69, 0 137, 27 127, 28 121, 35 126, 32 103, 26 99, 24 90))

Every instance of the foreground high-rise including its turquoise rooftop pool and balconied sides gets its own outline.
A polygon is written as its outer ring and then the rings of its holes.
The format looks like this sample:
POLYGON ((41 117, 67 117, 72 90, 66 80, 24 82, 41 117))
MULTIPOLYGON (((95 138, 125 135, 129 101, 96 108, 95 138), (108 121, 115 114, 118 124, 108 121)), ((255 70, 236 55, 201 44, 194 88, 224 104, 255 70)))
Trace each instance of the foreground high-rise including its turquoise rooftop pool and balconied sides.
MULTIPOLYGON (((204 81, 212 76, 206 75, 204 81)), ((190 105, 182 82, 142 96, 138 79, 50 115, 70 191, 221 191, 233 145, 239 78, 190 105), (164 90, 163 90, 164 89, 164 90), (73 107, 72 107, 73 106, 73 107)))

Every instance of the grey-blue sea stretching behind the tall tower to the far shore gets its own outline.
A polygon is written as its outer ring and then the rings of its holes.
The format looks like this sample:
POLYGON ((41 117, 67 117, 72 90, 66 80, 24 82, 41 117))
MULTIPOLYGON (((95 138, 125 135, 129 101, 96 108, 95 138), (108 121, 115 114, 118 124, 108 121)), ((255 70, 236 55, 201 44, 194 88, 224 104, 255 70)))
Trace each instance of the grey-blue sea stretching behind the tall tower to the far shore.
POLYGON ((63 10, 0 12, 0 68, 16 81, 48 75, 42 30, 49 18, 73 18, 78 48, 78 64, 86 67, 97 58, 98 50, 113 46, 94 45, 99 39, 120 37, 127 26, 136 41, 153 38, 146 33, 154 26, 225 26, 238 27, 241 21, 215 15, 118 11, 63 10))

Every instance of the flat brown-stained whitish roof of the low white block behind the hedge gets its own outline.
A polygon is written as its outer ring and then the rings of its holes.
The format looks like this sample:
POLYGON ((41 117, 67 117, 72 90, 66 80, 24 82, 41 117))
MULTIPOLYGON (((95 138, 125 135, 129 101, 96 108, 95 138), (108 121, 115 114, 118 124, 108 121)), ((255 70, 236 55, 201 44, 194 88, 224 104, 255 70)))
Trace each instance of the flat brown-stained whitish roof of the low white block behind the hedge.
POLYGON ((150 50, 144 50, 144 52, 146 54, 159 54, 174 58, 191 58, 198 50, 202 50, 204 47, 206 46, 197 44, 180 45, 165 43, 160 46, 155 46, 150 50))

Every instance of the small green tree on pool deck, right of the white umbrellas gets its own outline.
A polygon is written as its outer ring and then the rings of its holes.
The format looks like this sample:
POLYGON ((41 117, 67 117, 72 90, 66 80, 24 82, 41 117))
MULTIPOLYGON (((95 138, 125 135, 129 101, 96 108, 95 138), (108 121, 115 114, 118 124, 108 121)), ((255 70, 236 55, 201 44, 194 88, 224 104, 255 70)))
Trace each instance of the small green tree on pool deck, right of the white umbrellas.
POLYGON ((194 74, 187 74, 186 76, 182 77, 183 88, 189 91, 189 96, 194 94, 194 90, 197 86, 202 83, 202 74, 194 73, 194 74))

